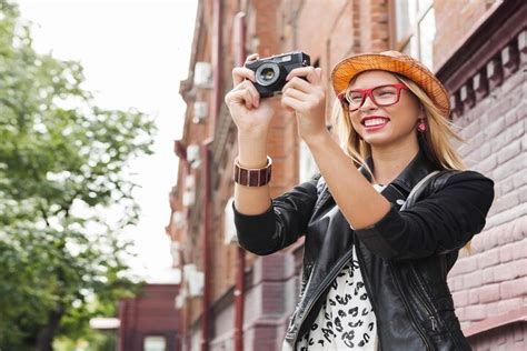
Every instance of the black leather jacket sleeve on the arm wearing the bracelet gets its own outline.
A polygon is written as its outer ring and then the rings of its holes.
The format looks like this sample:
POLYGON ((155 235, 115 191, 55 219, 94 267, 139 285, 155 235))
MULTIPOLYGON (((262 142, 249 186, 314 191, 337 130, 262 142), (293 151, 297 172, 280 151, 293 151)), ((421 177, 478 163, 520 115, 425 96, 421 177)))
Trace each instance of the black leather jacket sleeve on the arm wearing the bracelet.
POLYGON ((265 255, 297 241, 306 231, 317 201, 318 178, 319 176, 274 199, 267 212, 261 214, 242 214, 232 203, 240 245, 247 251, 265 255))

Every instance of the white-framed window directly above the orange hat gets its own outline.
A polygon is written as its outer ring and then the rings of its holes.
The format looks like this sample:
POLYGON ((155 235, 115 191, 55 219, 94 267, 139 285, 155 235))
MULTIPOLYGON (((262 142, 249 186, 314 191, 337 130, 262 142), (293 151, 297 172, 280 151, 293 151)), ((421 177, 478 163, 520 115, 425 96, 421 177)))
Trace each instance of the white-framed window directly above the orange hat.
POLYGON ((392 0, 397 51, 419 59, 432 70, 436 18, 432 0, 392 0))

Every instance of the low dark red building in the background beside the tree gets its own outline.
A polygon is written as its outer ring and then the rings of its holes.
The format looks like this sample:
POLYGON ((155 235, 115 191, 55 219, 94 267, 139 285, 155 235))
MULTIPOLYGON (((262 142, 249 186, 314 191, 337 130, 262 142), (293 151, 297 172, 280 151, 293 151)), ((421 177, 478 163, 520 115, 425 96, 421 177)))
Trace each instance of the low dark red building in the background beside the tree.
POLYGON ((119 303, 120 351, 182 350, 181 322, 175 311, 179 284, 148 284, 119 303))

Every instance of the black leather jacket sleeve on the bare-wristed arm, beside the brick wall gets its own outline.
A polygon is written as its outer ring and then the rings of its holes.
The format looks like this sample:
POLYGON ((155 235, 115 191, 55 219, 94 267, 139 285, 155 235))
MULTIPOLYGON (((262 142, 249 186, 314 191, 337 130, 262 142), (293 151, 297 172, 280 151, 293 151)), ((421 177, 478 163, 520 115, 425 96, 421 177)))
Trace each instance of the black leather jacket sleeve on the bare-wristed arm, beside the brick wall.
POLYGON ((446 253, 463 248, 484 229, 493 200, 490 179, 473 171, 455 173, 426 199, 400 212, 391 205, 382 219, 356 234, 387 259, 446 253))

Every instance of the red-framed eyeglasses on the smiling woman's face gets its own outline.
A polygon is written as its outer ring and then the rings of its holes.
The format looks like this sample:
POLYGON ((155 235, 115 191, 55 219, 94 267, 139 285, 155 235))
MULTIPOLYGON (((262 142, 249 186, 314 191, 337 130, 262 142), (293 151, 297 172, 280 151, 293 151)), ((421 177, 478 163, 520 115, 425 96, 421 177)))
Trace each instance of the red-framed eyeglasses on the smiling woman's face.
POLYGON ((365 103, 366 97, 380 107, 392 106, 399 102, 400 91, 408 90, 402 83, 384 84, 371 89, 346 90, 338 94, 341 103, 346 102, 350 112, 357 111, 365 103))

